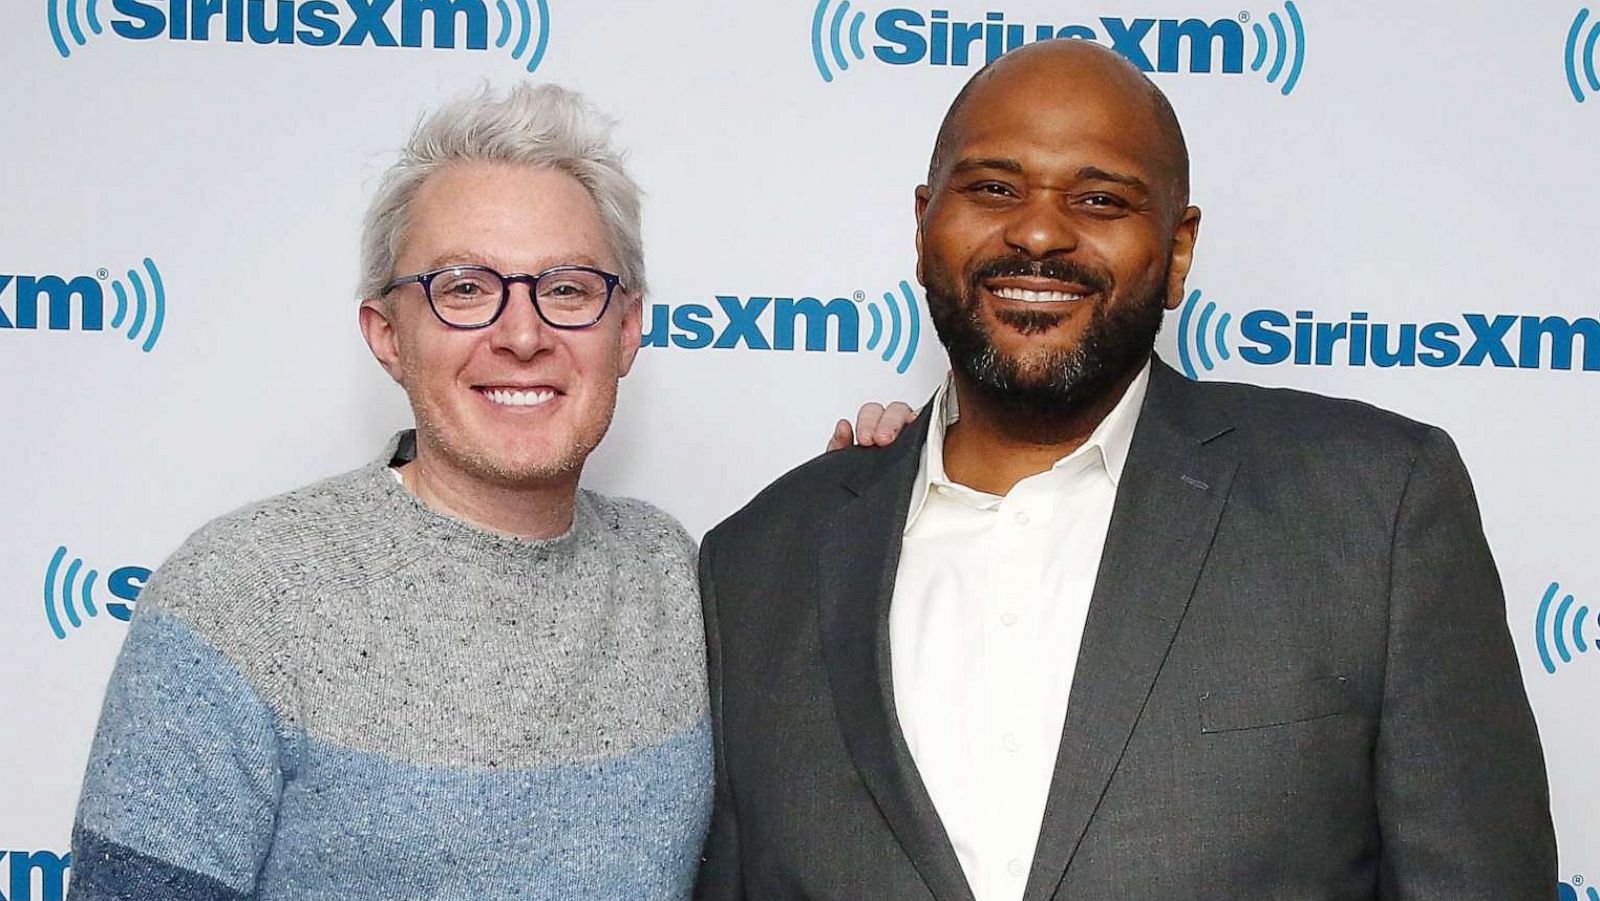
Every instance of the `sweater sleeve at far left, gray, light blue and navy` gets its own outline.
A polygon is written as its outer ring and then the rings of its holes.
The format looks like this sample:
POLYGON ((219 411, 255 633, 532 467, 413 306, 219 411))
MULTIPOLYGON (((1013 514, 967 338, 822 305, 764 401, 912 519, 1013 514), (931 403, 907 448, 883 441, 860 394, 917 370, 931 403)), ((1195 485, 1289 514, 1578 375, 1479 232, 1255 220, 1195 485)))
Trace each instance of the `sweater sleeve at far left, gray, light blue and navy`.
POLYGON ((285 770, 259 674, 282 667, 235 642, 264 602, 224 595, 261 586, 194 544, 150 579, 112 671, 72 827, 72 901, 256 895, 285 770))

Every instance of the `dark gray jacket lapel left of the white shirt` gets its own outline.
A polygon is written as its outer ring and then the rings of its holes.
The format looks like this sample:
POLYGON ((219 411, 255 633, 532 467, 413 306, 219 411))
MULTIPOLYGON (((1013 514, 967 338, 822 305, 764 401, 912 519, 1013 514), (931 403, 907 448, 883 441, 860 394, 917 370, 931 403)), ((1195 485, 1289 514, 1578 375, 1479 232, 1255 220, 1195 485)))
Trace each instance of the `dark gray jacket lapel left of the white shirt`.
POLYGON ((822 656, 834 709, 867 791, 939 901, 971 901, 950 839, 917 775, 894 717, 890 671, 890 600, 901 533, 928 434, 926 410, 888 450, 867 459, 845 488, 854 495, 837 512, 819 560, 822 656))

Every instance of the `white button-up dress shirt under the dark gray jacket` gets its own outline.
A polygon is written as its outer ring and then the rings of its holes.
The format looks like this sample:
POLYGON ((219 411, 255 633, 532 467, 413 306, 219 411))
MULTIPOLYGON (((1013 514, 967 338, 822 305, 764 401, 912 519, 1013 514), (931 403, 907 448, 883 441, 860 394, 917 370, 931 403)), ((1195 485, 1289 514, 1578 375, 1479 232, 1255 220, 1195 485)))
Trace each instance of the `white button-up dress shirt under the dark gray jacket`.
POLYGON ((1150 366, 1090 438, 1008 495, 944 472, 949 379, 906 519, 890 607, 894 709, 978 901, 1034 863, 1072 671, 1150 366))

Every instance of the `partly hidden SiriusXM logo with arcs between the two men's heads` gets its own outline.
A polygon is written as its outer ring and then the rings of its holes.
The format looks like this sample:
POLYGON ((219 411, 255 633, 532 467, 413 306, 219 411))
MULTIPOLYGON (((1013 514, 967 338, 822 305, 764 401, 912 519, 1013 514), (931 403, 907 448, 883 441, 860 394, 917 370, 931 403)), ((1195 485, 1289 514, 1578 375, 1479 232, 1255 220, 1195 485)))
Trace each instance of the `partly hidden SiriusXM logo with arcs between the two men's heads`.
POLYGON ((904 280, 898 291, 883 291, 882 302, 869 299, 866 291, 856 291, 851 298, 827 301, 813 296, 717 294, 715 309, 707 304, 654 304, 645 320, 645 347, 856 354, 861 350, 862 306, 872 326, 867 350, 893 365, 894 371, 904 373, 917 355, 922 334, 917 294, 910 290, 910 282, 904 280))

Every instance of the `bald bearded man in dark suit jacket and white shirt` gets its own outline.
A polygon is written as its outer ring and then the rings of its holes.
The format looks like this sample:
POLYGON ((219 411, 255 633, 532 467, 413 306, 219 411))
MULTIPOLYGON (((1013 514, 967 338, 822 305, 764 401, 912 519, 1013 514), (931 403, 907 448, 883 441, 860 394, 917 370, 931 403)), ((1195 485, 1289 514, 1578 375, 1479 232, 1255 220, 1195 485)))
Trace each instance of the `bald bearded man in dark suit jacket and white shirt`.
POLYGON ((1555 898, 1454 445, 1152 354, 1200 210, 1086 42, 963 88, 917 189, 950 376, 701 551, 707 899, 1555 898))

